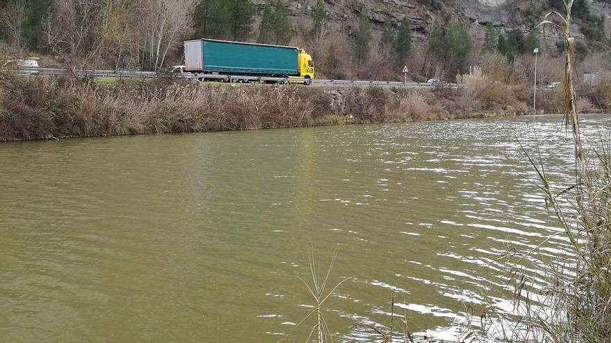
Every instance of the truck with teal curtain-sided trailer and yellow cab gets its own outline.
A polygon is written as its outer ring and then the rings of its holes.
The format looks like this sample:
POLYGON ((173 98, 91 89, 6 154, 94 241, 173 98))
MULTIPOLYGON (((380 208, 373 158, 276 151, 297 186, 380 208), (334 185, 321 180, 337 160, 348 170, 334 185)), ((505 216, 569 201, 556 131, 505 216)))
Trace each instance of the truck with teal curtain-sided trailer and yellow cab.
POLYGON ((228 42, 217 39, 185 40, 185 71, 199 80, 238 82, 301 82, 314 80, 312 56, 294 46, 228 42))

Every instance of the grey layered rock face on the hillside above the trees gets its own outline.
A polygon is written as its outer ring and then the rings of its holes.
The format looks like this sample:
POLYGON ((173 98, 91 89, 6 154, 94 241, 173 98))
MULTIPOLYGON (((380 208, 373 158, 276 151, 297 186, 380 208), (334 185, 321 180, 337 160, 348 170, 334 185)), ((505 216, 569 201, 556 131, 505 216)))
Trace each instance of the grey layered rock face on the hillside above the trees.
MULTIPOLYGON (((258 5, 259 15, 265 3, 269 2, 269 0, 252 1, 258 5)), ((534 3, 541 2, 539 0, 534 3)), ((285 3, 294 23, 308 27, 316 0, 285 0, 285 3)), ((407 15, 417 42, 426 40, 430 25, 435 21, 462 21, 482 38, 485 25, 488 23, 492 23, 500 33, 514 29, 526 33, 533 28, 532 25, 521 24, 521 21, 515 18, 516 12, 521 12, 521 15, 528 14, 528 6, 532 6, 532 0, 324 0, 324 3, 330 24, 335 29, 345 30, 349 34, 355 30, 362 6, 367 8, 374 34, 378 35, 386 22, 390 21, 392 25, 398 26, 407 15)), ((591 6, 597 8, 601 3, 593 1, 591 6)), ((576 37, 583 37, 578 28, 574 32, 576 37)))

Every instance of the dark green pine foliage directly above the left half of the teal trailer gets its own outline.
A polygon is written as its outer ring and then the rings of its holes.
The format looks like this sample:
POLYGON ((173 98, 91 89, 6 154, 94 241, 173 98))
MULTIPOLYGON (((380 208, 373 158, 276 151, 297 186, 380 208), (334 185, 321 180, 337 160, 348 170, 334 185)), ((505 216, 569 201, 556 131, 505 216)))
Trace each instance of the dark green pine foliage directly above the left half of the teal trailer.
POLYGON ((201 0, 192 19, 199 37, 242 40, 251 34, 255 12, 250 0, 201 0))

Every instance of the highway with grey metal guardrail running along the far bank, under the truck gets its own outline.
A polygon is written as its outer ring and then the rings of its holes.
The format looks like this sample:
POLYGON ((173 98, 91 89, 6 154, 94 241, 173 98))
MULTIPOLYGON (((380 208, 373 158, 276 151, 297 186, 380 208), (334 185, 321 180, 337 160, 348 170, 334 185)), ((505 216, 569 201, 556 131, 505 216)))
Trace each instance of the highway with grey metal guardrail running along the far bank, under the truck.
MULTIPOLYGON (((18 70, 19 75, 22 76, 69 76, 69 71, 60 68, 33 68, 33 67, 22 67, 18 70)), ((76 70, 76 76, 85 77, 90 76, 94 78, 156 78, 163 76, 163 74, 156 73, 155 71, 113 71, 113 70, 76 70)), ((303 78, 268 78, 258 76, 229 76, 229 75, 210 75, 210 74, 196 74, 196 73, 176 73, 171 74, 175 78, 183 79, 200 79, 206 78, 206 80, 218 80, 232 83, 265 83, 265 82, 277 82, 277 83, 301 83, 304 81, 303 78)), ((312 80, 312 86, 315 87, 389 87, 389 88, 432 88, 435 87, 433 83, 429 82, 397 82, 397 81, 366 81, 366 80, 326 80, 326 79, 315 79, 312 80)), ((446 83, 446 87, 449 88, 460 88, 460 85, 455 83, 446 83)))

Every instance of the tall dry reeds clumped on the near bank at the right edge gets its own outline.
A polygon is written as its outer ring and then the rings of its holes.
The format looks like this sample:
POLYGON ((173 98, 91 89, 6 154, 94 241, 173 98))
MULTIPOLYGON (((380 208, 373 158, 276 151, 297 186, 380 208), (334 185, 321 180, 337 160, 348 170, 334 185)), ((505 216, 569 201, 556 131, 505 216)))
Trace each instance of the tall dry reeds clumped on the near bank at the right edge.
MULTIPOLYGON (((515 274, 517 323, 488 332, 511 342, 611 342, 611 155, 608 142, 601 141, 591 150, 583 145, 573 80, 573 3, 565 0, 564 15, 551 12, 540 25, 555 27, 564 39, 564 123, 573 139, 574 183, 554 191, 544 164, 523 149, 569 251, 564 261, 534 265, 544 279, 515 274), (538 287, 536 283, 542 281, 544 285, 538 287)), ((532 253, 520 254, 520 262, 532 253)))

